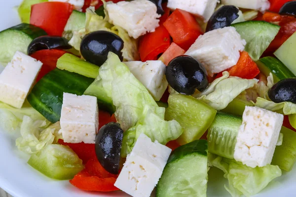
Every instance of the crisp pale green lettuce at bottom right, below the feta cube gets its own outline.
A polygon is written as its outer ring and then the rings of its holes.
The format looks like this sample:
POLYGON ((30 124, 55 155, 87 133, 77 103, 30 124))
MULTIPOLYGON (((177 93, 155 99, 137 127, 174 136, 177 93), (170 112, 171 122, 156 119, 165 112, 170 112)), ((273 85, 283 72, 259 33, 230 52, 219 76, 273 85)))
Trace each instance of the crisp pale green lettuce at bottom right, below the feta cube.
POLYGON ((264 167, 252 168, 211 153, 209 153, 208 163, 225 173, 224 177, 228 179, 228 186, 224 187, 232 197, 256 195, 270 181, 282 175, 282 171, 277 165, 268 164, 264 167))

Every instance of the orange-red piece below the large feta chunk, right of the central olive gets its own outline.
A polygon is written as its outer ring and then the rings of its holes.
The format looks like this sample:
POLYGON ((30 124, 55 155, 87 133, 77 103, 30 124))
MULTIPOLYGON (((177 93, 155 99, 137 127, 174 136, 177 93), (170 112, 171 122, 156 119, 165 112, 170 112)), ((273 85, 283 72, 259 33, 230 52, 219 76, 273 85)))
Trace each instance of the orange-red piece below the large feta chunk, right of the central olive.
MULTIPOLYGON (((257 64, 252 60, 246 51, 240 53, 240 58, 236 65, 226 69, 230 76, 237 76, 244 79, 254 79, 260 70, 257 64)), ((216 78, 222 76, 222 72, 218 73, 216 78)))

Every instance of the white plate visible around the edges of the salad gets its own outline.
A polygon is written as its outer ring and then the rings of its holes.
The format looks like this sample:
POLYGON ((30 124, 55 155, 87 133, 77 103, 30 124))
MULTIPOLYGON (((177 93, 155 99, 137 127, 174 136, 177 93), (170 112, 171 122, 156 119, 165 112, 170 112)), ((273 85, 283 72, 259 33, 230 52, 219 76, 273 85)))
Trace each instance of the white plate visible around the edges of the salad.
MULTIPOLYGON (((1 0, 0 31, 20 23, 14 6, 21 0, 1 0), (4 2, 3 2, 4 1, 4 2)), ((1 43, 0 43, 0 47, 1 43)), ((14 136, 0 131, 0 187, 14 197, 123 197, 122 192, 83 192, 69 181, 55 181, 47 178, 27 164, 28 156, 22 155, 15 147, 14 136)), ((296 196, 296 167, 271 182, 256 197, 296 196)), ((209 171, 208 197, 230 196, 223 184, 222 171, 209 171)))

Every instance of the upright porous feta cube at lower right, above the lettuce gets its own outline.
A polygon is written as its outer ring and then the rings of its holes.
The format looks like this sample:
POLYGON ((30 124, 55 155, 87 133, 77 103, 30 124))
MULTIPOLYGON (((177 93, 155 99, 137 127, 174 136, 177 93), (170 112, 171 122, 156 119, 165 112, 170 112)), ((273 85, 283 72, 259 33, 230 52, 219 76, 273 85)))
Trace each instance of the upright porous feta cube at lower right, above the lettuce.
POLYGON ((236 138, 234 159, 250 167, 270 164, 283 120, 282 114, 246 106, 236 138))

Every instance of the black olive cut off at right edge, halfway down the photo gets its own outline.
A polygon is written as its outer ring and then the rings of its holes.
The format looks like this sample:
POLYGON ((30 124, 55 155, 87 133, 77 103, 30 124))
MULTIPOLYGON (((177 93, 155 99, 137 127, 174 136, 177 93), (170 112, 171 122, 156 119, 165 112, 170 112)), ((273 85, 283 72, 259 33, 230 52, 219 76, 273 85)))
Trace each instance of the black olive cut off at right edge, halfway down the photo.
POLYGON ((276 103, 284 101, 296 103, 296 78, 283 79, 274 84, 268 91, 268 97, 276 103))

